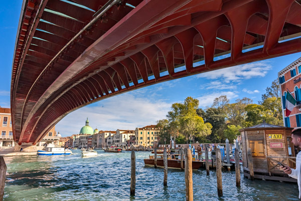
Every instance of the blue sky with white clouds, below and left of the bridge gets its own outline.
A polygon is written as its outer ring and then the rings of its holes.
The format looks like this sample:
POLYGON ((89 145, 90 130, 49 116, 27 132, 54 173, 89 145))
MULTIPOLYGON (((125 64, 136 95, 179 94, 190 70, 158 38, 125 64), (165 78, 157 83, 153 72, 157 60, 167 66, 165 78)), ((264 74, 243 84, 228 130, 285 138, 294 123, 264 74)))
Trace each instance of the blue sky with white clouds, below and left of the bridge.
MULTIPOLYGON (((22 1, 8 1, 0 7, 0 106, 10 108, 12 62, 22 1)), ((173 103, 183 103, 192 96, 206 109, 213 99, 227 95, 230 103, 237 98, 248 97, 257 104, 266 87, 277 78, 277 73, 301 57, 301 53, 268 60, 233 66, 211 72, 191 75, 176 80, 143 87, 116 95, 78 109, 57 125, 56 131, 63 137, 78 134, 85 125, 98 130, 134 130, 137 127, 154 125, 165 119, 173 103)))

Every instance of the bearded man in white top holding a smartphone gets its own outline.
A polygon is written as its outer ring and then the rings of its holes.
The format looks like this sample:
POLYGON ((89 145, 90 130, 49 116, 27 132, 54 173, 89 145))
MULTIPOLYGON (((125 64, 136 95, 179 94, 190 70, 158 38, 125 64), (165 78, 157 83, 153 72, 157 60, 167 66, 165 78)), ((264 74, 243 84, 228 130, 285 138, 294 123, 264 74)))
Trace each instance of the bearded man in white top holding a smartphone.
MULTIPOLYGON (((296 129, 291 132, 291 142, 294 147, 301 148, 301 129, 296 129)), ((296 156, 296 169, 292 169, 289 166, 281 166, 283 171, 288 174, 288 176, 297 179, 299 188, 299 199, 301 198, 301 153, 296 156)))

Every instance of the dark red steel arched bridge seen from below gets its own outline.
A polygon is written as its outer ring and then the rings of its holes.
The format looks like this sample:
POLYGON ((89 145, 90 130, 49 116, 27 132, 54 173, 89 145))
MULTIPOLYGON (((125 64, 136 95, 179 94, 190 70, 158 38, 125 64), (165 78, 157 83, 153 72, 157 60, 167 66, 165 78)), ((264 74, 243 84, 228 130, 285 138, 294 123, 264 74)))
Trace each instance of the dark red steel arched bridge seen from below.
POLYGON ((299 3, 24 1, 12 70, 14 139, 36 144, 68 113, 112 95, 299 52, 299 3))

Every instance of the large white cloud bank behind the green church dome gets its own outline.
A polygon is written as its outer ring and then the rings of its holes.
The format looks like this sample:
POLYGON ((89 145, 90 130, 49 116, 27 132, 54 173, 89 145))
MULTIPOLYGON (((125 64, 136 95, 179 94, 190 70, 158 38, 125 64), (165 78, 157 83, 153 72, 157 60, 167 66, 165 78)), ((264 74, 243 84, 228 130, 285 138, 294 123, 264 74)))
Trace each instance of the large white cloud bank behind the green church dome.
POLYGON ((78 134, 86 118, 93 129, 134 130, 165 119, 171 105, 150 95, 139 97, 136 93, 127 92, 70 113, 56 125, 56 131, 62 136, 78 134))

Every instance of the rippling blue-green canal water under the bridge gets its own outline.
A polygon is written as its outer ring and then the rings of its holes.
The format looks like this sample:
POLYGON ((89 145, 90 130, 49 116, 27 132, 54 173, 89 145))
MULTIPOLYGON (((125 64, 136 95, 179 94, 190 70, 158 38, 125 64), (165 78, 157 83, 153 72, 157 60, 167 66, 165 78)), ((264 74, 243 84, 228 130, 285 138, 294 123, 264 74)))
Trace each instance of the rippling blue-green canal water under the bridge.
MULTIPOLYGON (((163 169, 144 167, 149 152, 136 152, 136 193, 129 196, 130 152, 71 156, 6 157, 4 200, 185 200, 184 171, 169 170, 163 186, 163 169)), ((241 178, 223 171, 223 197, 218 198, 215 171, 193 171, 194 200, 298 200, 298 186, 278 181, 241 178)))

